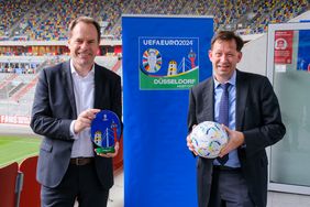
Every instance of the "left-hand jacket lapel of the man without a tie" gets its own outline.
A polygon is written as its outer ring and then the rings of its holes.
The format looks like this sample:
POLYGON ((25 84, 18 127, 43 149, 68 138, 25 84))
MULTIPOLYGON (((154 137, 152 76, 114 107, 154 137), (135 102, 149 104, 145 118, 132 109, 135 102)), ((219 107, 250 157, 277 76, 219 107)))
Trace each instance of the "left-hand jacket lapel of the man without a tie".
MULTIPOLYGON (((73 84, 73 76, 70 70, 70 62, 65 62, 62 66, 62 74, 63 74, 63 85, 65 91, 68 95, 68 99, 70 101, 70 107, 73 109, 73 117, 77 118, 77 108, 76 108, 76 99, 74 92, 74 84, 73 84)), ((69 107, 69 106, 68 106, 69 107)))

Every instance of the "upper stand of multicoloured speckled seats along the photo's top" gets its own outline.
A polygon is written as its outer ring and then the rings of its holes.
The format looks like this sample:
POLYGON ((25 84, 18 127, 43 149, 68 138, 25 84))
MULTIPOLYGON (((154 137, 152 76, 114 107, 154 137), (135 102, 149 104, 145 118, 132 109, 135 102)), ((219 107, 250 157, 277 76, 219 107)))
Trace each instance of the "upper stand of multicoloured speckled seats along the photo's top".
POLYGON ((214 31, 246 29, 246 33, 266 32, 268 23, 287 22, 309 9, 308 0, 64 0, 0 1, 0 41, 67 40, 67 26, 74 18, 90 15, 104 26, 104 35, 121 39, 121 15, 190 14, 213 15, 214 31), (40 18, 37 18, 40 17, 40 18))

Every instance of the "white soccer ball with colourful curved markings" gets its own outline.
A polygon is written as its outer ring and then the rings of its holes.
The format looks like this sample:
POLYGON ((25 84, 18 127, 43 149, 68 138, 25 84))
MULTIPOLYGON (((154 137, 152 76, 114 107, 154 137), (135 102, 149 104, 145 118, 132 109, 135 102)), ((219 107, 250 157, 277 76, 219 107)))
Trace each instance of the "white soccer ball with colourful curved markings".
POLYGON ((199 156, 214 159, 228 143, 229 137, 220 123, 204 121, 196 126, 190 133, 191 143, 199 156))

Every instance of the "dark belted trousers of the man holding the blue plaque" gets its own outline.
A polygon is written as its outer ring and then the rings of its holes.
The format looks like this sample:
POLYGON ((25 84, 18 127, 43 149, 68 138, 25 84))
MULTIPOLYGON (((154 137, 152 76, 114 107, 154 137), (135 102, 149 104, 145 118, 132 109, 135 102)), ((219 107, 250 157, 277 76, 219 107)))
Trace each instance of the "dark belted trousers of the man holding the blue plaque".
POLYGON ((42 207, 73 207, 76 199, 79 207, 107 206, 109 189, 102 188, 95 164, 74 165, 69 167, 62 181, 55 187, 42 186, 42 207))

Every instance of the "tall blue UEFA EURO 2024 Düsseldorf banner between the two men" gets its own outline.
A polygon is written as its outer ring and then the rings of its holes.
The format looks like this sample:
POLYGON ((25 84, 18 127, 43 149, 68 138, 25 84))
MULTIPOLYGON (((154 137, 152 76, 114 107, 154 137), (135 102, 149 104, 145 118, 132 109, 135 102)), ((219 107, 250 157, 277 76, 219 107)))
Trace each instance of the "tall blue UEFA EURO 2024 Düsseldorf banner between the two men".
POLYGON ((208 17, 122 18, 124 206, 197 206, 188 88, 211 75, 208 17))

